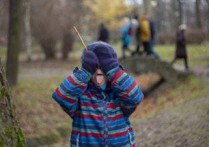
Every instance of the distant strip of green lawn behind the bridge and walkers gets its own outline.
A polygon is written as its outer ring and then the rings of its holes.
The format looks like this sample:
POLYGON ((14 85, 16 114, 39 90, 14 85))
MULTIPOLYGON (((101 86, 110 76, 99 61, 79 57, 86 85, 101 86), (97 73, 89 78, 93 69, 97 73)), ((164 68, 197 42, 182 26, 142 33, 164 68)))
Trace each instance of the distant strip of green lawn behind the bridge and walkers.
MULTIPOLYGON (((116 42, 112 44, 116 49, 118 57, 121 57, 121 42, 116 42)), ((131 49, 134 50, 134 46, 131 49)), ((142 49, 142 48, 141 48, 142 49)), ((175 55, 175 45, 156 45, 155 47, 158 54, 161 56, 162 60, 171 62, 175 55)), ((72 53, 69 54, 69 58, 72 60, 79 60, 83 51, 83 46, 80 42, 74 44, 74 49, 72 53)), ((206 66, 209 67, 209 42, 205 42, 200 45, 187 45, 189 66, 206 66)), ((34 45, 32 53, 39 54, 42 50, 39 45, 34 45)), ((24 56, 26 52, 21 51, 20 56, 24 56)), ((0 46, 0 58, 5 59, 6 57, 6 47, 0 46)), ((183 64, 183 61, 179 60, 177 64, 183 64)))

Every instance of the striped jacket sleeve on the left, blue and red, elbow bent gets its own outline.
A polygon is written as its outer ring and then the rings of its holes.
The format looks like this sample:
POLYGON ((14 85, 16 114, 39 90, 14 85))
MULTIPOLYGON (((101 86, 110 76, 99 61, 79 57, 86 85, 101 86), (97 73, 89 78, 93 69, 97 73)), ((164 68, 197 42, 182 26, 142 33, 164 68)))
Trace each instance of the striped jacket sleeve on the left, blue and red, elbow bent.
POLYGON ((52 94, 52 98, 71 118, 77 110, 78 99, 86 90, 90 77, 90 74, 84 69, 75 68, 73 73, 65 78, 52 94))

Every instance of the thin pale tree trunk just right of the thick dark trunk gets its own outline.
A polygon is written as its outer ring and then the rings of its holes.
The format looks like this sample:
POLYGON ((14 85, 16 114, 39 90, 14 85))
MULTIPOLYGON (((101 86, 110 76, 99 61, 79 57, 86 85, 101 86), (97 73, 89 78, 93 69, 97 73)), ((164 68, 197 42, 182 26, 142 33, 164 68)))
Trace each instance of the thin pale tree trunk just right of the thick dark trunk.
POLYGON ((30 8, 31 8, 31 0, 25 0, 25 19, 24 19, 24 27, 25 27, 25 35, 24 35, 24 44, 27 52, 27 59, 31 61, 32 56, 32 47, 31 47, 31 28, 30 28, 30 8))

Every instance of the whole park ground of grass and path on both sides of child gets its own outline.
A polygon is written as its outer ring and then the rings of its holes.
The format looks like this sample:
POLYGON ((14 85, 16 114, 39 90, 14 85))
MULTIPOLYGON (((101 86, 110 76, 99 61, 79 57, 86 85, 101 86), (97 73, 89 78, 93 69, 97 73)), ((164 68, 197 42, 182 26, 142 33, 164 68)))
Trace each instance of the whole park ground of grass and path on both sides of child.
MULTIPOLYGON (((209 65, 206 46, 189 46, 189 65, 196 75, 143 100, 131 122, 140 147, 209 146, 209 65), (198 49, 198 50, 197 50, 198 49)), ((170 61, 173 46, 159 46, 162 60, 170 61)), ((79 52, 79 51, 78 51, 79 52)), ((51 98, 72 66, 80 66, 79 54, 68 61, 34 60, 20 63, 18 86, 12 90, 17 116, 29 147, 69 146, 71 120, 51 98), (74 60, 76 59, 76 60, 74 60)), ((175 64, 175 68, 184 70, 175 64)), ((142 88, 158 77, 137 75, 142 88)))

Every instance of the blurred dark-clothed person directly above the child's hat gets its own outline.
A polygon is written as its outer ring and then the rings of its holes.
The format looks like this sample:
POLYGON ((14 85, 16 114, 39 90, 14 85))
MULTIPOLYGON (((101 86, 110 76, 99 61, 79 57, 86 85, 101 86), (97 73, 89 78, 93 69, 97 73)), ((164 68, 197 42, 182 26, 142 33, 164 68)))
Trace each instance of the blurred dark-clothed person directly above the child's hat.
POLYGON ((98 41, 108 42, 109 41, 109 31, 104 23, 99 26, 98 41))

